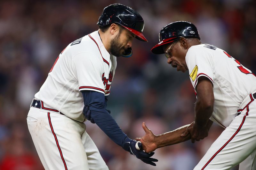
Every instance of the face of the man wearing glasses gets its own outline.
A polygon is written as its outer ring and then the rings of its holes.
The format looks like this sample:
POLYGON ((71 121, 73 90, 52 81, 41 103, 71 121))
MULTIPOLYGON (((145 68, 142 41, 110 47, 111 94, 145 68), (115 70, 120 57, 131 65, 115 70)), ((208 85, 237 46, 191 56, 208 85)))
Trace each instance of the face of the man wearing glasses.
POLYGON ((180 41, 176 41, 171 45, 165 45, 163 47, 165 56, 167 57, 167 63, 171 64, 172 67, 177 68, 177 71, 186 72, 188 70, 186 64, 186 51, 180 45, 180 41))

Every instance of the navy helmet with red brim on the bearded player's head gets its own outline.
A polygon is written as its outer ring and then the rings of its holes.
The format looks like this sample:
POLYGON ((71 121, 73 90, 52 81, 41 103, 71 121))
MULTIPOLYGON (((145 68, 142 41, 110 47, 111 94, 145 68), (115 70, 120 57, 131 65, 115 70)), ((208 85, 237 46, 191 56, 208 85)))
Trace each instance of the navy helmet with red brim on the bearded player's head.
POLYGON ((142 34, 144 21, 140 14, 132 8, 122 4, 112 4, 103 9, 97 24, 106 26, 117 23, 136 35, 141 41, 148 41, 142 34))

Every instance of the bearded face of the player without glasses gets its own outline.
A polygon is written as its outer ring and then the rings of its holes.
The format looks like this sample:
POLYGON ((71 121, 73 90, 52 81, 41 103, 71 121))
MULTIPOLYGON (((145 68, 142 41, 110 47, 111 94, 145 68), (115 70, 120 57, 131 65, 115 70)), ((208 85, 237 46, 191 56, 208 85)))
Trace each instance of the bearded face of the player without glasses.
POLYGON ((132 47, 132 40, 135 37, 135 34, 131 33, 127 29, 119 28, 119 32, 116 37, 110 42, 110 52, 115 56, 124 55, 127 48, 132 47))

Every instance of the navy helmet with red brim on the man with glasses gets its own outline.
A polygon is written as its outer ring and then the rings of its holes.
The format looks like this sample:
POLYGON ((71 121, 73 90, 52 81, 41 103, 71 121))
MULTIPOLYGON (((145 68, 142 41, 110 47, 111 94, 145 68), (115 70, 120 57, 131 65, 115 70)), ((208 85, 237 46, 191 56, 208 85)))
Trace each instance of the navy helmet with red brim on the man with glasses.
POLYGON ((163 45, 172 43, 180 37, 195 37, 200 40, 198 30, 194 24, 187 21, 177 21, 164 26, 159 33, 159 43, 152 49, 154 54, 164 54, 163 45))

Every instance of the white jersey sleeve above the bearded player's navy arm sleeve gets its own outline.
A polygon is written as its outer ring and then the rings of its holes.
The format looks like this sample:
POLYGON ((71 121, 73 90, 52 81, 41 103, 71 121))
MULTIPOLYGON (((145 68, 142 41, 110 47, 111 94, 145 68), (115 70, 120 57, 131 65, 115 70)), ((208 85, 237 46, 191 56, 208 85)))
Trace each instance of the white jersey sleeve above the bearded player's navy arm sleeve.
POLYGON ((105 86, 102 82, 103 63, 96 55, 89 52, 79 53, 72 58, 72 62, 79 84, 79 92, 92 90, 105 94, 105 86))

